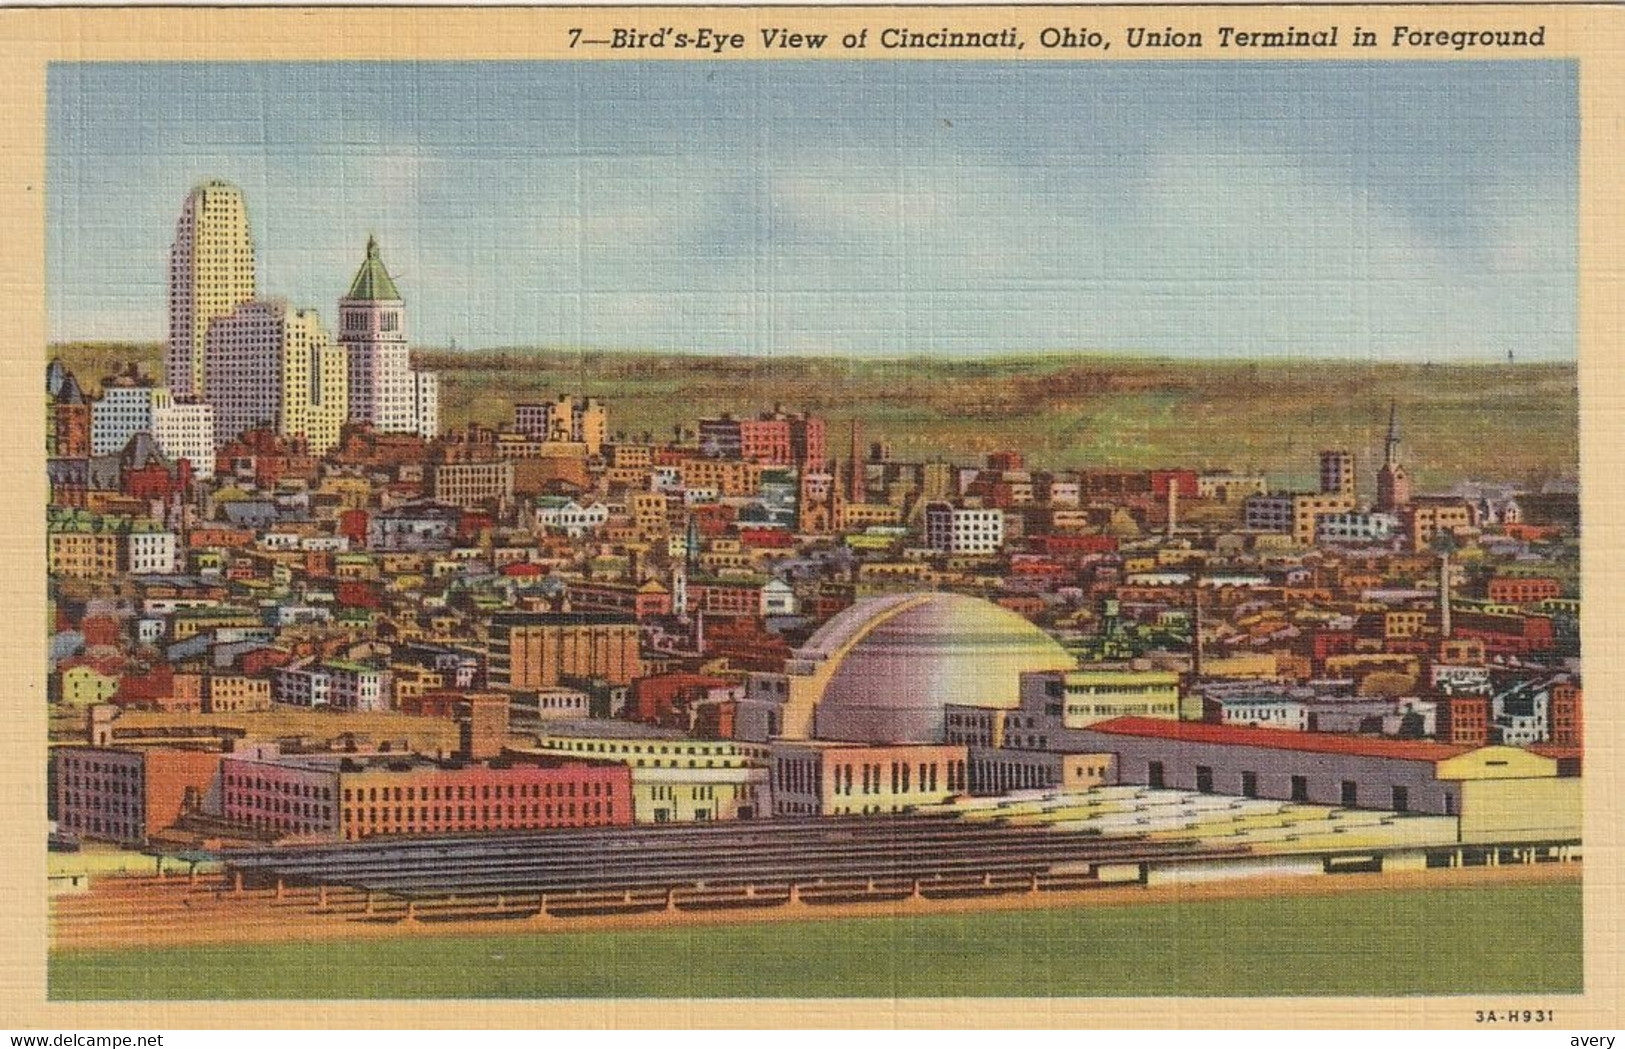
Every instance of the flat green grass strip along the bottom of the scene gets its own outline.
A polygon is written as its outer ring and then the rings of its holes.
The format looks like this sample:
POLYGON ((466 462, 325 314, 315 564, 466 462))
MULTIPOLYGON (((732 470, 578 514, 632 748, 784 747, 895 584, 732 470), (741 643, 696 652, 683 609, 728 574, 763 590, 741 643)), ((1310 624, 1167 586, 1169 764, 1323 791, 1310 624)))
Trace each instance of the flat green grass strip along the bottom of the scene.
POLYGON ((52 999, 1578 994, 1580 885, 54 952, 52 999))

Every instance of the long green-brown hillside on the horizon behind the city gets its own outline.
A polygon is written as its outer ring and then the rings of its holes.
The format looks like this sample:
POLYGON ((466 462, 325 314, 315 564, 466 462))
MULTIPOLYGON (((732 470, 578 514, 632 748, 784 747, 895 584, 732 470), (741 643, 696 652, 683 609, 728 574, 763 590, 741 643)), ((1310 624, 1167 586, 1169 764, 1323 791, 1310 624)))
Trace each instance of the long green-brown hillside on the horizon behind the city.
MULTIPOLYGON (((158 346, 55 348, 94 388, 115 364, 161 370, 158 346)), ((687 357, 632 352, 421 351, 442 372, 445 425, 500 422, 518 401, 603 398, 611 430, 670 438, 699 416, 808 408, 900 458, 975 460, 1017 448, 1042 466, 1263 471, 1310 482, 1320 448, 1350 448, 1362 484, 1398 401, 1407 464, 1424 486, 1539 481, 1578 471, 1571 364, 1401 365, 1346 360, 1173 360, 1053 354, 983 360, 687 357)))

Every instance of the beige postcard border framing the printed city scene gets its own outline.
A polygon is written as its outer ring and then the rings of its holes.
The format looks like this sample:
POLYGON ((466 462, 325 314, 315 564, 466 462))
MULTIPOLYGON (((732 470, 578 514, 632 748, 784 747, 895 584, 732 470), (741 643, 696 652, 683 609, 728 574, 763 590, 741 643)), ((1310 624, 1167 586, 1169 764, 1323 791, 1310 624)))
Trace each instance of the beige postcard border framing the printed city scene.
MULTIPOLYGON (((952 8, 101 8, 0 11, 0 1026, 49 1030, 187 1028, 712 1028, 712 1026, 1079 1026, 1079 1028, 1464 1028, 1495 999, 904 999, 904 1000, 463 1000, 463 1002, 117 1002, 46 1000, 44 515, 41 373, 46 364, 44 193, 46 65, 119 60, 588 58, 567 49, 567 26, 684 23, 757 39, 764 24, 845 34, 864 26, 931 23, 960 29, 1220 24, 1284 29, 1308 23, 1415 24, 1451 29, 1545 26, 1545 45, 1508 58, 1578 58, 1581 96, 1580 404, 1586 596, 1586 994, 1539 995, 1560 1030, 1618 1028, 1618 776, 1625 716, 1625 8, 1601 5, 1391 6, 952 6, 952 8)), ((1347 36, 1344 36, 1347 41, 1347 36)), ((1386 44, 1386 41, 1384 41, 1386 44)), ((1040 50, 991 57, 1133 62, 1144 52, 1040 50), (1077 54, 1090 57, 1077 58, 1077 54)), ((733 58, 618 52, 604 60, 774 60, 751 47, 733 58)), ((785 55, 782 55, 785 57, 785 55)), ((786 57, 804 58, 790 52, 786 57)), ((827 60, 942 58, 936 52, 826 50, 827 60)), ((975 62, 977 57, 952 55, 975 62)), ((1159 52, 1155 58, 1462 60, 1474 52, 1337 49, 1311 55, 1159 52)), ((1531 939, 1539 929, 1526 930, 1531 939)), ((1068 961, 1061 961, 1063 965, 1068 961)))

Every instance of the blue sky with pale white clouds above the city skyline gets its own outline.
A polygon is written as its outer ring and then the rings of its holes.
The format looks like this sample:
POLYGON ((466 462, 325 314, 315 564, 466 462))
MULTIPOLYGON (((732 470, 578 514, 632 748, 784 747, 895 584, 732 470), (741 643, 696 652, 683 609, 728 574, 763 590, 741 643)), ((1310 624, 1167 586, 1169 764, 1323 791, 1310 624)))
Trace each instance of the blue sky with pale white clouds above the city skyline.
POLYGON ((162 338, 218 177, 421 344, 1575 357, 1570 62, 57 63, 47 136, 54 339, 162 338))

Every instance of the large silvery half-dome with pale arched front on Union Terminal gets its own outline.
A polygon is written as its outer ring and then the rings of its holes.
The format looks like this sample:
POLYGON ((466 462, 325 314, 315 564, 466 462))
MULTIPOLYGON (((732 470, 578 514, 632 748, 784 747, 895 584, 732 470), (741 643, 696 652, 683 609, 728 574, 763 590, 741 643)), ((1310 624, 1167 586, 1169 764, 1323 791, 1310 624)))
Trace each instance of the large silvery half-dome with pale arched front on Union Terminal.
POLYGON ((1020 674, 1074 666, 1016 612, 944 593, 860 601, 796 656, 824 680, 812 736, 853 742, 941 742, 946 703, 1014 708, 1020 674))

